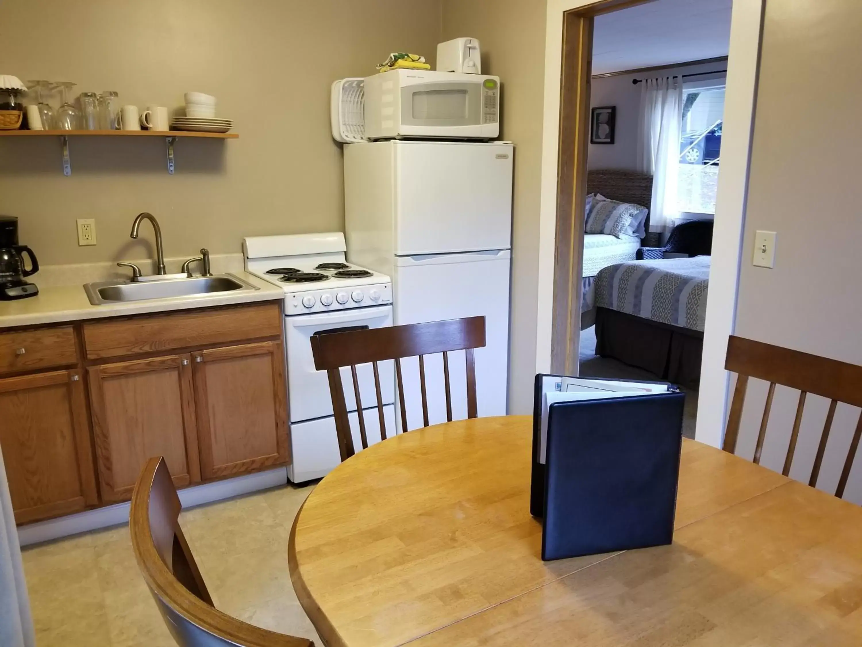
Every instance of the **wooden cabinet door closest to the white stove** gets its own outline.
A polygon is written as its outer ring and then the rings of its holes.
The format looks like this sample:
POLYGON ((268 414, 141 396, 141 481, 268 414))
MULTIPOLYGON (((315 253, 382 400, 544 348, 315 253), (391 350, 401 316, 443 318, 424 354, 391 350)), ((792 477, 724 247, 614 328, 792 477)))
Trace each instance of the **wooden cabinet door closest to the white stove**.
POLYGON ((203 478, 288 462, 281 342, 250 343, 193 355, 203 478))

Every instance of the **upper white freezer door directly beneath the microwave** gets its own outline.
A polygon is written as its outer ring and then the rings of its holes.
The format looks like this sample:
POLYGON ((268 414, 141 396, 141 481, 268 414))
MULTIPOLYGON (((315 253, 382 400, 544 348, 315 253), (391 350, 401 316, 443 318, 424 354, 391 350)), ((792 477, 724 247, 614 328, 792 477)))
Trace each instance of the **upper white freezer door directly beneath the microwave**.
POLYGON ((511 144, 394 147, 395 255, 511 247, 511 144))

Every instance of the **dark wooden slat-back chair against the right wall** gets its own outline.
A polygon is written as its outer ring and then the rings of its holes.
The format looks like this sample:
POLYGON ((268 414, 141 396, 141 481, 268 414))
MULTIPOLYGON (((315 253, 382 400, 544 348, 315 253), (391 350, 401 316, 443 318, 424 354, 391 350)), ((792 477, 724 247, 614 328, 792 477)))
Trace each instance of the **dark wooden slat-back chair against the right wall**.
MULTIPOLYGON (((830 360, 818 355, 809 355, 798 350, 784 349, 780 346, 772 346, 768 343, 754 342, 751 339, 731 336, 728 341, 728 355, 724 367, 733 373, 739 374, 734 390, 734 399, 730 405, 728 416, 728 427, 724 434, 724 444, 721 449, 734 453, 736 439, 740 433, 740 421, 742 419, 742 406, 745 404, 746 388, 750 377, 769 382, 769 392, 766 395, 766 405, 763 417, 760 420, 757 444, 754 449, 754 462, 760 463, 760 453, 763 451, 763 443, 766 435, 766 425, 769 423, 769 413, 772 407, 772 396, 775 394, 775 385, 790 386, 797 389, 799 402, 796 405, 796 418, 793 429, 790 432, 790 446, 784 458, 784 469, 782 474, 790 474, 790 465, 793 462, 793 453, 796 451, 796 440, 799 437, 799 427, 803 421, 803 408, 805 397, 808 393, 821 395, 831 400, 829 411, 826 414, 826 422, 821 431, 820 444, 817 447, 814 468, 811 470, 809 486, 815 487, 817 477, 820 474, 823 454, 826 451, 826 443, 829 439, 829 430, 832 427, 832 419, 835 415, 835 407, 839 402, 848 405, 862 406, 862 367, 848 364, 844 361, 830 360)), ((844 469, 838 481, 835 496, 839 499, 844 496, 844 488, 847 478, 853 468, 853 459, 856 457, 856 449, 859 447, 859 437, 862 436, 862 415, 853 433, 853 441, 847 452, 844 469)))

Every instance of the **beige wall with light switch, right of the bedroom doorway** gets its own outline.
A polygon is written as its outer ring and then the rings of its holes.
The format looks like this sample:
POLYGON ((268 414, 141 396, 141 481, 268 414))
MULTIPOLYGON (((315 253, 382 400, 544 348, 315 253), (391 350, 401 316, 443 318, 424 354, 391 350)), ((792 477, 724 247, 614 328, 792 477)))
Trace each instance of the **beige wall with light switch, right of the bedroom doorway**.
MULTIPOLYGON (((862 364, 859 82, 862 3, 767 0, 736 334, 862 364), (752 266, 754 232, 778 232, 774 269, 752 266)), ((746 400, 750 455, 765 399, 746 400)), ((764 462, 780 469, 796 394, 778 389, 764 462), (777 415, 778 414, 778 415, 777 415)), ((809 398, 790 473, 808 480, 828 403, 809 398)), ((859 410, 839 407, 821 473, 834 489, 859 410)), ((744 434, 746 432, 743 432, 744 434)), ((848 485, 862 503, 862 461, 848 485)))

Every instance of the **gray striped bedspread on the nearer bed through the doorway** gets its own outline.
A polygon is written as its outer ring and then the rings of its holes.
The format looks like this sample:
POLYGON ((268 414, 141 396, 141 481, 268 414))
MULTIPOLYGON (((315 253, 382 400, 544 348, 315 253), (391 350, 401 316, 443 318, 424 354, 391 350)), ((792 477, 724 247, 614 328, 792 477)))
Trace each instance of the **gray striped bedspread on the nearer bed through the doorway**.
POLYGON ((595 304, 703 331, 708 286, 709 256, 629 261, 597 274, 595 304))

